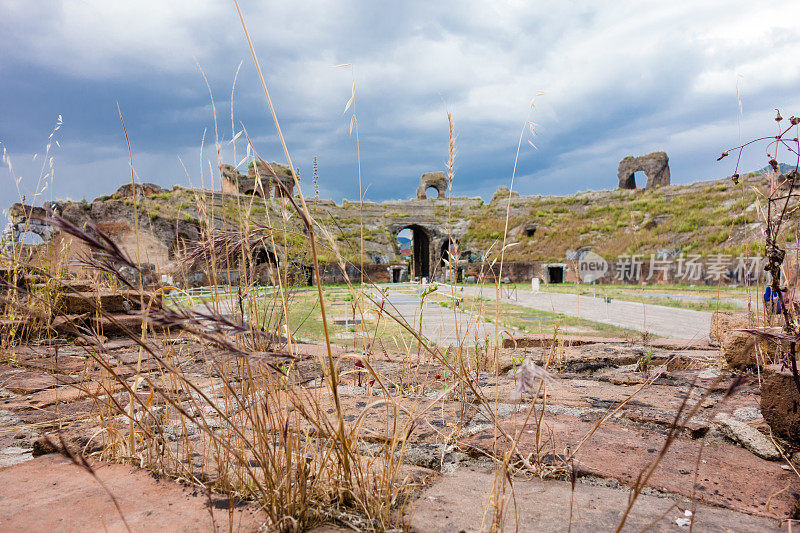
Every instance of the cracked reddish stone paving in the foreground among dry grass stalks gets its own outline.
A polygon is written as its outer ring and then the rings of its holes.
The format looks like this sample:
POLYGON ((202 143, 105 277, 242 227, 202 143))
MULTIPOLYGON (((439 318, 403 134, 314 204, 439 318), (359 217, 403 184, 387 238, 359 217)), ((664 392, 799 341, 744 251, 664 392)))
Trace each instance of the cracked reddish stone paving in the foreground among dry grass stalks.
MULTIPOLYGON (((408 306, 409 313, 419 306, 413 298, 395 302, 408 306)), ((431 321, 435 308, 442 317, 454 316, 452 309, 432 307, 431 321)), ((366 455, 380 453, 395 428, 403 428, 407 440, 403 459, 415 469, 415 479, 424 481, 409 506, 414 531, 477 531, 485 523, 495 479, 492 458, 501 456, 508 444, 493 425, 495 419, 507 434, 518 436, 522 457, 555 475, 542 481, 532 479, 524 468, 517 471, 512 477, 515 499, 505 503, 506 530, 515 528, 517 519, 520 531, 566 531, 570 524, 573 531, 613 530, 630 486, 660 456, 676 413, 693 407, 696 415, 681 423, 625 530, 639 531, 655 523, 655 531, 688 531, 692 521, 696 531, 786 530, 786 520, 797 516, 800 502, 800 477, 793 471, 800 464, 800 449, 779 440, 792 464, 783 455, 767 460, 729 433, 731 428, 745 428, 751 435, 768 435, 759 409, 757 377, 737 379, 724 367, 721 354, 706 343, 657 341, 647 345, 584 338, 575 339, 574 345, 555 346, 517 342, 516 347, 501 348, 497 362, 490 362, 496 372, 475 372, 474 387, 487 403, 471 390, 457 393, 452 376, 425 353, 369 356, 391 394, 387 398, 359 370, 361 356, 337 348, 343 376, 341 405, 346 424, 360 424, 366 455), (553 382, 518 398, 518 372, 526 360, 547 366, 553 382), (536 410, 529 417, 534 401, 536 410), (574 485, 569 481, 573 472, 574 485)), ((240 386, 229 378, 223 383, 210 371, 206 352, 191 337, 169 342, 154 337, 151 342, 171 347, 173 363, 212 402, 222 401, 223 386, 240 386)), ((58 446, 46 446, 42 437, 55 435, 60 428, 74 450, 85 454, 101 450, 97 398, 112 394, 124 407, 127 393, 118 392, 103 378, 104 371, 87 356, 87 347, 72 342, 57 345, 18 347, 6 352, 0 364, 0 501, 5 504, 0 529, 123 529, 96 481, 60 456, 50 455, 58 446), (34 455, 43 456, 34 459, 34 455)), ((320 377, 321 347, 297 349, 296 381, 324 404, 329 393, 320 377)), ((138 363, 148 375, 163 371, 148 357, 139 361, 131 340, 107 341, 102 350, 108 364, 123 375, 131 376, 131 367, 138 363)), ((158 394, 144 387, 141 392, 158 394)), ((334 411, 323 410, 318 416, 333 422, 334 411)), ((300 424, 288 429, 307 428, 300 424)), ((178 423, 165 427, 165 434, 174 437, 199 439, 199 433, 178 423)), ((119 497, 126 518, 141 526, 134 530, 158 525, 212 531, 212 520, 217 528, 228 527, 224 504, 213 504, 209 512, 203 489, 187 492, 171 481, 154 482, 129 466, 93 464, 119 497), (147 522, 150 515, 144 509, 152 511, 152 522, 147 522)), ((508 487, 506 491, 510 498, 508 487)), ((254 504, 236 509, 233 530, 256 530, 259 515, 254 504)))

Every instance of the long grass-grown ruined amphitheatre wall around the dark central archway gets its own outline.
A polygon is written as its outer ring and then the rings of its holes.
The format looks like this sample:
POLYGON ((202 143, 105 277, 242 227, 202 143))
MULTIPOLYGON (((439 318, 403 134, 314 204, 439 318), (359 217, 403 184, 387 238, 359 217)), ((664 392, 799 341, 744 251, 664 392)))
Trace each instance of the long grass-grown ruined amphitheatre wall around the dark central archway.
MULTIPOLYGON (((654 170, 659 170, 661 163, 666 168, 665 154, 663 160, 651 159, 655 161, 654 170)), ((626 161, 629 160, 623 160, 625 165, 621 165, 623 174, 634 168, 631 165, 641 163, 626 161)), ((281 180, 292 179, 288 167, 276 164, 273 170, 275 175, 281 174, 281 180)), ((666 170, 668 172, 668 168, 666 170)), ((247 219, 251 224, 266 226, 271 220, 273 227, 276 221, 281 221, 277 225, 282 227, 286 221, 287 234, 296 241, 294 246, 303 248, 305 229, 291 203, 285 198, 275 197, 277 182, 268 183, 264 189, 267 193, 272 187, 269 198, 252 201, 250 196, 250 201, 242 201, 243 194, 255 194, 254 184, 258 180, 263 184, 264 177, 259 177, 254 170, 250 175, 242 175, 233 167, 223 165, 223 191, 181 187, 168 191, 153 184, 137 184, 135 187, 126 184, 115 194, 91 203, 53 202, 47 207, 78 227, 97 226, 118 242, 132 259, 135 260, 138 253, 139 261, 154 265, 156 271, 165 270, 175 263, 180 258, 180 250, 200 238, 201 227, 205 230, 240 229, 243 207, 252 210, 247 219), (138 224, 134 221, 134 201, 139 205, 138 224)), ((757 180, 751 180, 753 187, 758 186, 757 180)), ((437 185, 440 192, 447 192, 447 182, 442 173, 424 174, 417 192, 424 192, 424 187, 432 184, 437 185)), ((391 266, 402 267, 403 276, 411 279, 443 280, 448 271, 443 259, 451 255, 448 250, 457 254, 460 276, 477 276, 480 262, 490 254, 488 263, 491 264, 505 242, 506 263, 502 277, 514 282, 529 282, 534 277, 546 282, 552 281, 551 277, 562 282, 577 281, 577 271, 568 257, 576 250, 586 249, 609 260, 608 272, 598 280, 599 283, 705 284, 712 282, 709 280, 723 284, 744 283, 755 280, 760 271, 751 268, 745 272, 743 267, 735 264, 738 258, 730 258, 731 265, 723 268, 710 258, 694 257, 692 263, 686 265, 694 270, 686 274, 685 269, 681 270, 683 267, 677 265, 670 270, 663 264, 651 264, 649 255, 639 255, 633 259, 633 264, 627 266, 624 257, 617 257, 635 250, 631 243, 637 240, 647 243, 647 254, 651 250, 679 253, 687 244, 691 245, 689 249, 709 254, 710 249, 699 239, 716 238, 721 231, 731 234, 724 241, 726 246, 730 243, 730 246, 742 249, 740 244, 743 242, 758 242, 763 229, 757 220, 742 217, 747 224, 733 227, 728 219, 710 220, 710 217, 717 216, 714 206, 728 205, 726 202, 741 199, 741 194, 734 194, 735 191, 726 192, 727 187, 725 182, 718 181, 662 187, 653 191, 588 191, 566 197, 520 196, 500 187, 489 203, 480 198, 448 198, 446 194, 437 199, 385 202, 345 200, 337 204, 314 198, 307 201, 318 225, 317 249, 320 261, 327 265, 324 276, 328 282, 344 282, 341 268, 337 266, 339 259, 353 265, 363 261, 365 271, 369 271, 369 279, 373 281, 391 280, 391 266), (695 200, 696 207, 690 203, 695 200), (655 206, 654 214, 645 211, 648 206, 655 206), (699 211, 702 209, 705 211, 699 211), (702 217, 703 224, 708 227, 704 227, 702 232, 679 234, 677 223, 681 222, 685 211, 691 211, 695 218, 702 217), (506 218, 508 234, 503 241, 506 218), (363 256, 360 255, 362 228, 363 256), (410 262, 409 257, 401 254, 397 242, 398 233, 404 229, 409 229, 414 235, 410 262)), ((46 215, 45 209, 36 207, 31 211, 29 207, 17 204, 12 207, 11 215, 4 240, 14 241, 26 228, 41 235, 45 241, 54 239, 53 229, 40 221, 46 215)), ((279 251, 279 255, 282 254, 279 251)), ((310 258, 303 257, 304 254, 301 250, 289 261, 310 262, 310 258)), ((277 260, 283 261, 284 258, 277 260)), ((483 267, 485 274, 492 279, 499 272, 496 271, 497 265, 488 270, 487 264, 483 267)), ((347 268, 351 279, 360 279, 357 268, 347 268)))

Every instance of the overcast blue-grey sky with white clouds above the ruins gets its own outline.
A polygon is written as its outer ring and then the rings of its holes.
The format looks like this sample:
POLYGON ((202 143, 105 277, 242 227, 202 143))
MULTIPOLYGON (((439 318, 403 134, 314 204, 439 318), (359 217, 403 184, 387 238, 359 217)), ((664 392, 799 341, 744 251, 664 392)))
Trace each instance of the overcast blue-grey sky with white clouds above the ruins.
MULTIPOLYGON (((772 133, 774 108, 800 114, 794 1, 241 2, 292 158, 310 177, 316 156, 321 195, 337 201, 359 196, 353 113, 371 200, 408 198, 443 168, 446 108, 455 194, 485 199, 510 182, 534 97, 522 194, 613 188, 622 157, 654 150, 669 154, 673 183, 723 177, 734 163, 716 162, 723 148, 772 133)), ((130 181, 117 104, 139 179, 216 182, 198 65, 226 162, 242 124, 264 159, 283 160, 232 0, 0 0, 0 46, 4 208, 42 176, 40 199, 130 181)), ((763 155, 749 152, 745 170, 763 155)))

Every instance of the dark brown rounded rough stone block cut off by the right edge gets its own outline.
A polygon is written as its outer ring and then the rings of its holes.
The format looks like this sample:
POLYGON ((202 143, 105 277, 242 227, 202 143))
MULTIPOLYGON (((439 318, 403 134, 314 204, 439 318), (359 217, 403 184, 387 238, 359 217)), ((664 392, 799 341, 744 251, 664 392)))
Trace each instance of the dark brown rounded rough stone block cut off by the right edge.
POLYGON ((769 365, 762 373, 761 414, 777 435, 800 444, 800 394, 789 369, 769 365))

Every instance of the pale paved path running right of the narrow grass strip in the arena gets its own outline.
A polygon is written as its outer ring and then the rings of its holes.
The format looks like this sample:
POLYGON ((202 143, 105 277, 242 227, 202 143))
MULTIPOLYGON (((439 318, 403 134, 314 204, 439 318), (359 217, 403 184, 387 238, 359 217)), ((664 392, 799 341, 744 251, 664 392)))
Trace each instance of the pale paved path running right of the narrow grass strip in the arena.
MULTIPOLYGON (((477 296, 479 287, 464 287, 464 293, 477 296)), ((679 309, 663 305, 642 304, 614 300, 606 303, 603 298, 578 296, 556 292, 531 292, 519 289, 515 292, 517 299, 508 298, 506 291, 501 301, 522 305, 542 311, 552 311, 565 315, 577 316, 637 331, 648 331, 663 337, 675 339, 708 340, 711 330, 711 313, 679 309)), ((494 287, 484 287, 483 297, 494 300, 494 287)))

